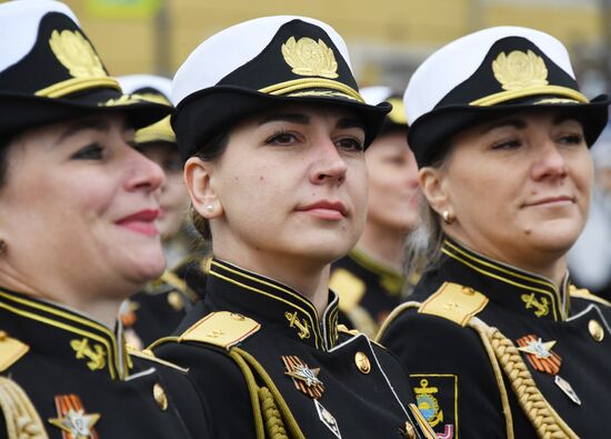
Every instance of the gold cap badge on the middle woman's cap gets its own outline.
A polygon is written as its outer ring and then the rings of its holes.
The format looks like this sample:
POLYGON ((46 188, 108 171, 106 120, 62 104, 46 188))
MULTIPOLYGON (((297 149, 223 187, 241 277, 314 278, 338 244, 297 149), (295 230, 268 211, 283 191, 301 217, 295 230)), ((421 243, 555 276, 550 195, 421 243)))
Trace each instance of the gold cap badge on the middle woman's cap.
POLYGON ((333 50, 322 40, 291 37, 282 44, 282 57, 292 72, 302 77, 338 78, 338 62, 333 50))

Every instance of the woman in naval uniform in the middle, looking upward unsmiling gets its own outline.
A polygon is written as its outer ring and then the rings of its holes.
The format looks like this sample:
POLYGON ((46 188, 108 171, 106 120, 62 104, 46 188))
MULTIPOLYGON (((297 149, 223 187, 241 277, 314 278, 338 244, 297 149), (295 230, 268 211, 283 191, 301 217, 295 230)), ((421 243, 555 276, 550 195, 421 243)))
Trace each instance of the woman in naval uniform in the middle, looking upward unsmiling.
POLYGON ((338 328, 329 263, 367 211, 365 104, 328 24, 268 17, 202 42, 172 126, 213 259, 202 302, 151 349, 189 368, 214 438, 434 438, 397 360, 338 328), (403 398, 400 397, 403 396, 403 398))

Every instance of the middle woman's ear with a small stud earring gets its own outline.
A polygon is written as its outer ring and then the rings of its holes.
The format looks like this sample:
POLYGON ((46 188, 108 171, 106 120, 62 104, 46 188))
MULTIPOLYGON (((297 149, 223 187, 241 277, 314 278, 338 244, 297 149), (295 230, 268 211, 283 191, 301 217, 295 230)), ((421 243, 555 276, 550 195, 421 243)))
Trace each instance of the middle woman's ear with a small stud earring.
POLYGON ((184 184, 193 209, 206 219, 218 218, 223 207, 211 184, 214 166, 199 157, 191 157, 184 163, 184 184))

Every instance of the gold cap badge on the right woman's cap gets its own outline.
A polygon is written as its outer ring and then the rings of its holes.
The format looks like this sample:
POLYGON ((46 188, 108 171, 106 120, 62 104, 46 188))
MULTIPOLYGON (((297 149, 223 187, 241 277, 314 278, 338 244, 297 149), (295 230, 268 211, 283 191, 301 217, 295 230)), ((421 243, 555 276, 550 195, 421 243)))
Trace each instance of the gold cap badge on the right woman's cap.
POLYGON ((492 61, 494 78, 503 90, 513 91, 548 84, 548 68, 543 59, 531 50, 514 50, 509 54, 501 52, 492 61))

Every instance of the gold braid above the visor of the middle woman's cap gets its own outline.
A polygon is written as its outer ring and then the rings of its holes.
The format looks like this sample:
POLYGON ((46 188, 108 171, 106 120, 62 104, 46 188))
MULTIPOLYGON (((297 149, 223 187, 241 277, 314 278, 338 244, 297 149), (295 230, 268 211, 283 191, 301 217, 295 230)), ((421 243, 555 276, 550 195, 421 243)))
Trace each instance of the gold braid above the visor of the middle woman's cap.
POLYGON ((273 96, 289 96, 289 97, 330 97, 330 96, 340 96, 343 98, 352 99, 359 102, 363 102, 363 98, 353 88, 338 81, 331 81, 329 79, 293 79, 291 81, 280 82, 273 86, 269 86, 259 90, 262 93, 273 94, 273 96), (299 90, 304 89, 325 89, 321 91, 308 90, 299 92, 299 90))

